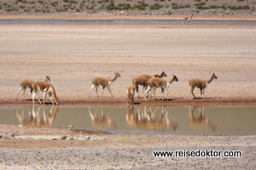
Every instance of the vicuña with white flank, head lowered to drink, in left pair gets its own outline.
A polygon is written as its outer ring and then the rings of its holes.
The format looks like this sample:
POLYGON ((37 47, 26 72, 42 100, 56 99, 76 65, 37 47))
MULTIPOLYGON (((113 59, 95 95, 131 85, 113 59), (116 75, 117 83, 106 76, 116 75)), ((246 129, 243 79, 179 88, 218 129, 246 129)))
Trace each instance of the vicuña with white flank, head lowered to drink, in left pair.
MULTIPOLYGON (((49 94, 49 99, 51 100, 52 105, 55 105, 55 103, 56 103, 56 105, 59 105, 59 99, 57 98, 57 95, 55 93, 55 88, 49 82, 42 82, 42 81, 34 82, 34 83, 32 83, 32 88, 34 91, 34 94, 32 96, 33 105, 35 104, 34 103, 35 97, 36 96, 38 97, 38 92, 44 93, 44 100, 46 98, 46 95, 49 94), (52 94, 55 97, 55 102, 52 99, 52 94)), ((42 105, 40 99, 38 99, 38 101, 39 101, 40 105, 42 105)))

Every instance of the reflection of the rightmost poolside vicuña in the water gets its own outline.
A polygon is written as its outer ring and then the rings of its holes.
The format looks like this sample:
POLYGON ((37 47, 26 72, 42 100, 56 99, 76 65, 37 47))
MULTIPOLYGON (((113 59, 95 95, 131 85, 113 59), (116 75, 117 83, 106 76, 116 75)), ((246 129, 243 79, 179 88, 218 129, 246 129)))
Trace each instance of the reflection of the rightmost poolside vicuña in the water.
POLYGON ((207 119, 207 117, 204 114, 205 107, 199 107, 198 110, 200 111, 200 116, 196 117, 194 116, 194 107, 192 109, 192 106, 189 106, 189 125, 190 127, 211 127, 212 132, 216 131, 216 124, 213 124, 211 121, 207 119))

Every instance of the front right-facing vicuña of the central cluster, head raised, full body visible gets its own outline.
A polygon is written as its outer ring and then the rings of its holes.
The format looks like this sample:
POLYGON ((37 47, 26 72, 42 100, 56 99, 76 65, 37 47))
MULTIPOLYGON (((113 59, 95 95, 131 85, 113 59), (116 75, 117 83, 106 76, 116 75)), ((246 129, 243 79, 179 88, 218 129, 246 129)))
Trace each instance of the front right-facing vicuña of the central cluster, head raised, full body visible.
MULTIPOLYGON (((168 88, 169 88, 169 86, 170 86, 170 84, 172 83, 172 82, 177 82, 178 80, 177 80, 177 77, 176 76, 174 76, 173 75, 173 77, 172 77, 172 80, 170 81, 170 82, 167 82, 166 80, 164 80, 164 79, 162 79, 162 78, 159 78, 159 77, 153 77, 153 78, 150 78, 149 80, 148 80, 148 88, 147 88, 147 90, 146 90, 146 92, 145 92, 145 100, 147 100, 147 97, 148 97, 148 91, 150 90, 150 89, 152 89, 152 88, 154 88, 154 92, 155 92, 155 89, 156 88, 161 88, 162 89, 162 99, 165 99, 165 95, 164 95, 164 93, 165 93, 165 90, 167 91, 167 94, 166 94, 166 97, 167 97, 167 95, 169 94, 169 92, 168 92, 168 88)), ((155 94, 154 94, 154 96, 155 96, 155 94)))

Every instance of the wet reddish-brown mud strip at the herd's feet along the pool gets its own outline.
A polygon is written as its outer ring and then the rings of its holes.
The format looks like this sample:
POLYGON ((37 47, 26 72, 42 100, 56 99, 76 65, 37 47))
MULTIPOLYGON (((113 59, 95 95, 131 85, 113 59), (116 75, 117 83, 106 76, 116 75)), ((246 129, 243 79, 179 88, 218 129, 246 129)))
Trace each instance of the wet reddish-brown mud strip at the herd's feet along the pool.
MULTIPOLYGON (((32 99, 29 100, 0 100, 0 107, 4 106, 29 106, 32 105, 32 99)), ((38 101, 36 101, 36 105, 38 101)), ((45 105, 52 105, 46 102, 45 105)), ((124 98, 108 98, 108 99, 74 99, 62 100, 61 106, 76 106, 76 105, 95 105, 95 106, 124 106, 126 101, 124 98)), ((256 99, 135 99, 135 105, 150 105, 150 106, 255 106, 256 99)))

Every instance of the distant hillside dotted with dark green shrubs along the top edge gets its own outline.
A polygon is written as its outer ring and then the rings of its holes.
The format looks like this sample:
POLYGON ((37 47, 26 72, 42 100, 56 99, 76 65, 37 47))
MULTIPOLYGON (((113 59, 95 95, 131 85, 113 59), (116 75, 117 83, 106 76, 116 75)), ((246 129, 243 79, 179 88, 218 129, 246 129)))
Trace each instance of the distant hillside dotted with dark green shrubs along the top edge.
POLYGON ((256 0, 1 0, 0 14, 255 14, 256 0), (121 12, 120 12, 121 11, 121 12))

